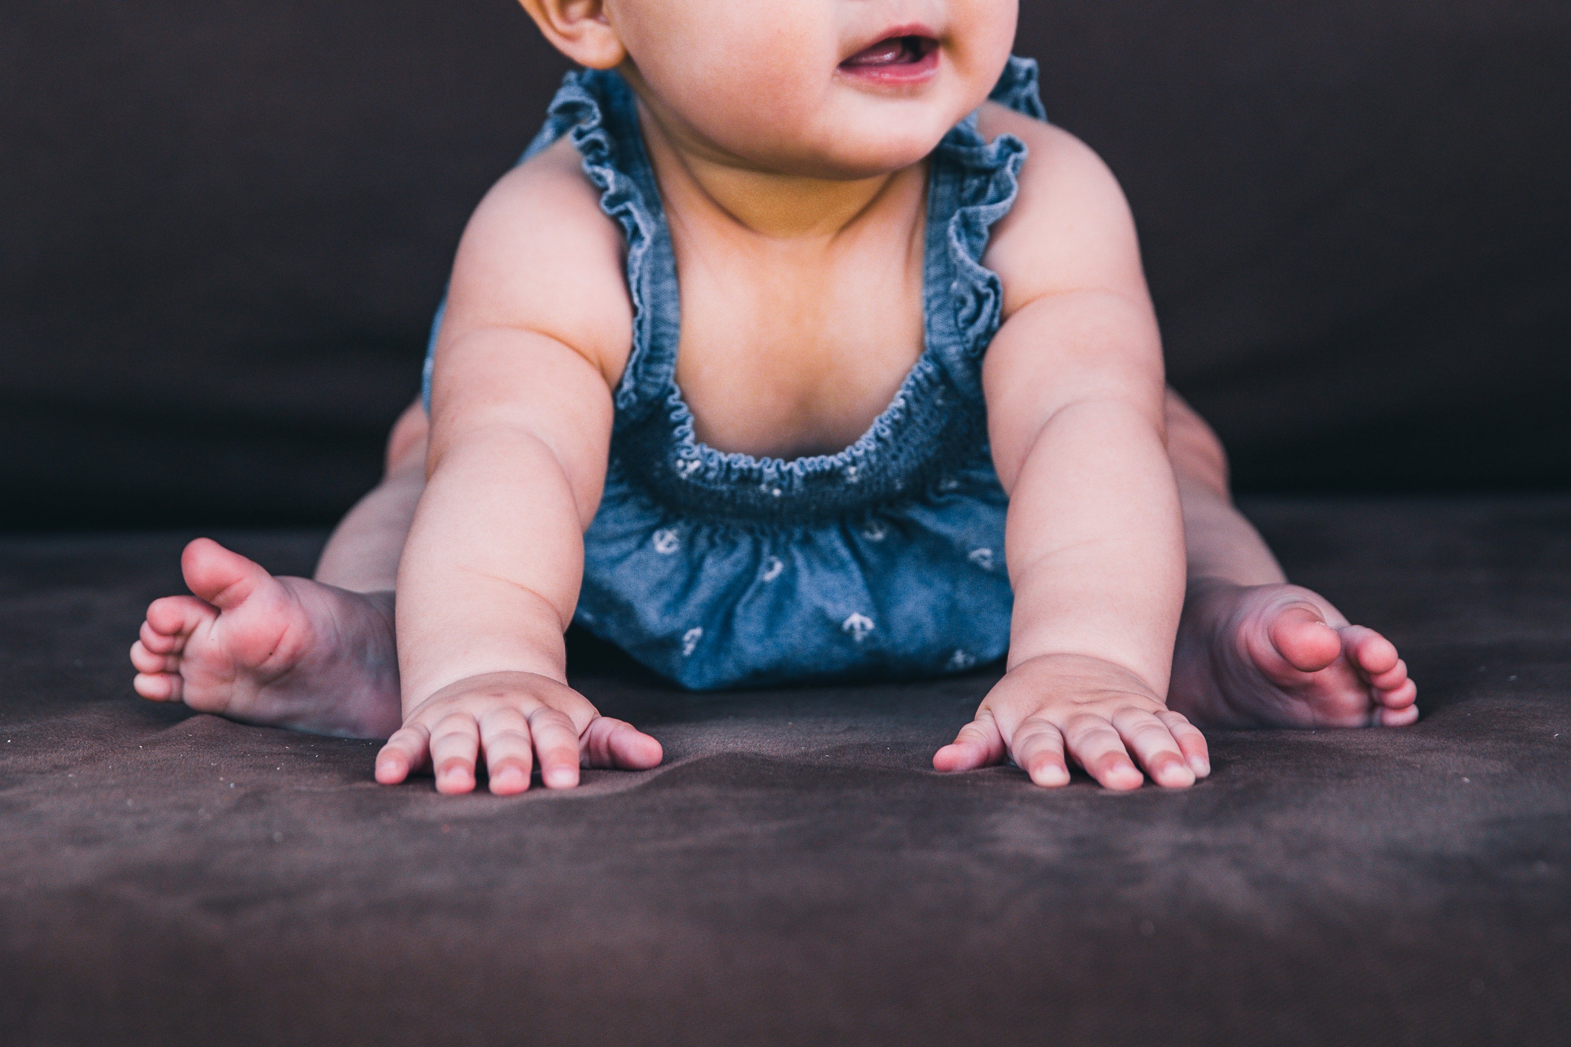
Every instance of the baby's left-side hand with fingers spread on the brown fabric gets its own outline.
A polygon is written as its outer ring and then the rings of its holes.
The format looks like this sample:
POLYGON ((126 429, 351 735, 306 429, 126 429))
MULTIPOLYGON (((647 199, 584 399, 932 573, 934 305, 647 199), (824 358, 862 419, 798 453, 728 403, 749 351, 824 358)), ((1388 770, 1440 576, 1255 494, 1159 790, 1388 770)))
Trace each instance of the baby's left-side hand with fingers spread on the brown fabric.
POLYGON ((448 684, 415 706, 377 753, 377 782, 396 785, 429 761, 438 793, 468 793, 481 752, 498 796, 529 788, 536 757, 540 780, 553 790, 578 785, 580 764, 646 771, 661 758, 658 741, 600 716, 567 684, 493 672, 448 684))

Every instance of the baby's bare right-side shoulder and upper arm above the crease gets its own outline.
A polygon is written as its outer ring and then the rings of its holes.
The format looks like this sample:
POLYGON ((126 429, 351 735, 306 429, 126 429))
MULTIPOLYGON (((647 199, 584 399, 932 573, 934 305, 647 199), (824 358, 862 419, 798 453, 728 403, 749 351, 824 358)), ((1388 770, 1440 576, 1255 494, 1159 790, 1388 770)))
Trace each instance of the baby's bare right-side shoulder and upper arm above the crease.
POLYGON ((993 226, 983 264, 1004 284, 1004 314, 1048 294, 1104 286, 1144 294, 1134 218, 1119 179, 1086 143, 988 102, 977 130, 1026 143, 1020 193, 993 226))

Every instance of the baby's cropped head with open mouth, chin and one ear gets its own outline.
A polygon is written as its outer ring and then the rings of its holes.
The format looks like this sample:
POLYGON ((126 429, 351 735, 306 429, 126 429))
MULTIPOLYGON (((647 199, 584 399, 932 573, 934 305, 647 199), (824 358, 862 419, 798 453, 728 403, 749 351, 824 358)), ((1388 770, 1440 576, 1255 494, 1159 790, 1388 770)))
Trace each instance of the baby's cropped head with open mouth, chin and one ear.
POLYGON ((987 99, 1018 0, 522 0, 687 148, 765 171, 916 163, 987 99))

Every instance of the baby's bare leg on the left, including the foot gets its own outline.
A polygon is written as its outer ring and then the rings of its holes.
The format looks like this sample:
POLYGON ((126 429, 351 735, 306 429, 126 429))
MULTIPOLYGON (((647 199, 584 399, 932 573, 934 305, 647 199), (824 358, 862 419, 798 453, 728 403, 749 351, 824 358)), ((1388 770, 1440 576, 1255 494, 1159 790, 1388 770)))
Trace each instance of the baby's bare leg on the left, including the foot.
POLYGON ((192 542, 181 568, 195 596, 148 607, 130 648, 137 692, 251 724, 391 735, 402 722, 393 584, 424 483, 416 403, 393 427, 382 483, 328 538, 316 581, 273 578, 217 542, 192 542))

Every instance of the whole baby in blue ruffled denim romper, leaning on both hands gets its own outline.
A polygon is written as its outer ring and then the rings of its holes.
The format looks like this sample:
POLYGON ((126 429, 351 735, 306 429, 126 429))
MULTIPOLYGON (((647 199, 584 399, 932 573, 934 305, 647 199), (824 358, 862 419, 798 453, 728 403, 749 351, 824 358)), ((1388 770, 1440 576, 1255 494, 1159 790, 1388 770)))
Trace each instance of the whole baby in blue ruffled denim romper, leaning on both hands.
POLYGON ((523 6, 584 69, 463 234, 385 480, 316 581, 193 542, 138 694, 388 738, 377 780, 443 793, 660 763, 567 686, 573 620, 690 688, 1007 651, 933 766, 1037 785, 1185 788, 1196 724, 1417 719, 1166 389, 1016 0, 523 6))

